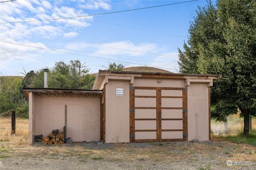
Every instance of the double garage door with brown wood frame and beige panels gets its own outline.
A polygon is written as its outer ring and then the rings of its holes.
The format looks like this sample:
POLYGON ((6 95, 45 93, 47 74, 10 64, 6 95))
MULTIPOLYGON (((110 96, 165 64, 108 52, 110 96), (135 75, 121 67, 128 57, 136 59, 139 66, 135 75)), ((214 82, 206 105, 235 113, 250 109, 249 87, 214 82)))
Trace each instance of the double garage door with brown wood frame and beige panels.
POLYGON ((130 87, 130 142, 187 140, 187 88, 130 87))

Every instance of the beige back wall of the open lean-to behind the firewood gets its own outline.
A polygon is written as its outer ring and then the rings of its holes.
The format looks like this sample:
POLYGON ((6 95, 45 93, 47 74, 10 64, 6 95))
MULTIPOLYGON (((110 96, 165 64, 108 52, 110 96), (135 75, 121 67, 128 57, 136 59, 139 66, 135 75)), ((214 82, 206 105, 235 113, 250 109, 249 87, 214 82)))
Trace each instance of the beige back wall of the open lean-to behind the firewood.
POLYGON ((67 105, 67 137, 71 137, 74 142, 100 140, 100 98, 97 97, 34 95, 35 134, 45 136, 53 129, 63 131, 65 105, 67 105))

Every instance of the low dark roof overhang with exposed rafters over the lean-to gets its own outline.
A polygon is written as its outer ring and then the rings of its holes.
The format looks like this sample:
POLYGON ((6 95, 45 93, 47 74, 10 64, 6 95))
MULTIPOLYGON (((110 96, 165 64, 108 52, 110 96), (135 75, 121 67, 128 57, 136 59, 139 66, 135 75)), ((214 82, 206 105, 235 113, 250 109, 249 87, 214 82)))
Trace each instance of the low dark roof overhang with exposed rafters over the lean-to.
POLYGON ((85 89, 54 89, 54 88, 23 88, 22 91, 29 96, 29 92, 38 96, 55 96, 55 97, 101 97, 102 90, 85 90, 85 89))

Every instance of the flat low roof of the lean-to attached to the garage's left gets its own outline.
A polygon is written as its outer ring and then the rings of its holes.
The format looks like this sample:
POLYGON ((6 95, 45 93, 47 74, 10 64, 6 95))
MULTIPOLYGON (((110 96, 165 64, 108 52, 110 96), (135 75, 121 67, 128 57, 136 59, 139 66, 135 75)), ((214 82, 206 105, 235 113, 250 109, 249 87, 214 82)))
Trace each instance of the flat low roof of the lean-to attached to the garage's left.
POLYGON ((42 95, 102 95, 102 90, 86 90, 86 89, 54 89, 54 88, 23 88, 25 95, 28 97, 29 92, 42 95))

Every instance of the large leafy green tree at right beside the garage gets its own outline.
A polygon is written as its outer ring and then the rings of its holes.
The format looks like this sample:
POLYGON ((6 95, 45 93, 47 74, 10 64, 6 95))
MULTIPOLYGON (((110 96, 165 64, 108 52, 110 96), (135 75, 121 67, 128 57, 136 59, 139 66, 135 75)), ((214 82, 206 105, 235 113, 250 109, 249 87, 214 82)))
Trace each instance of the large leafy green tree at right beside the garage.
POLYGON ((212 87, 212 117, 241 111, 244 131, 256 115, 256 1, 219 0, 199 7, 179 49, 182 73, 221 74, 212 87))

